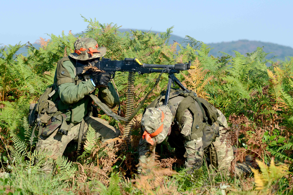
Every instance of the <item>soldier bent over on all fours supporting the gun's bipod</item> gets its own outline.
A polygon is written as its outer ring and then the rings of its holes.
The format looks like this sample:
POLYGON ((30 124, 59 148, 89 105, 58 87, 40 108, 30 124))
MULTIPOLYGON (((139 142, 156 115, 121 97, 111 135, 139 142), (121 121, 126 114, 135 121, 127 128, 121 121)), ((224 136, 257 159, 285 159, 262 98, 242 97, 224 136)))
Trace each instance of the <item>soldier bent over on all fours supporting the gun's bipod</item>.
MULTIPOLYGON (((222 174, 234 159, 232 146, 227 147, 223 137, 228 127, 225 116, 208 101, 198 98, 194 92, 171 90, 168 105, 164 106, 165 93, 157 97, 145 110, 142 120, 142 138, 139 141, 139 163, 148 163, 155 145, 168 136, 168 143, 175 148, 177 158, 185 158, 185 168, 189 174, 201 168, 204 153, 207 154, 209 168, 222 174)), ((249 167, 257 167, 250 156, 243 163, 235 165, 236 176, 250 174, 249 167)), ((141 171, 139 166, 138 171, 141 171)))

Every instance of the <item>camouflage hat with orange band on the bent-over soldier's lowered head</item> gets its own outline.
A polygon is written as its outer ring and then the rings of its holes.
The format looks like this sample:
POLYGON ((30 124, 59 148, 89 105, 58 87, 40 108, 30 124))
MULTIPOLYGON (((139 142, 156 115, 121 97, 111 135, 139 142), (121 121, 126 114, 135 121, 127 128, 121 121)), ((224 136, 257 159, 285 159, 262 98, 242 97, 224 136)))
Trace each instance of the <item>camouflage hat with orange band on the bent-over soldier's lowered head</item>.
POLYGON ((168 106, 148 108, 141 119, 143 139, 154 145, 166 139, 173 116, 168 106))

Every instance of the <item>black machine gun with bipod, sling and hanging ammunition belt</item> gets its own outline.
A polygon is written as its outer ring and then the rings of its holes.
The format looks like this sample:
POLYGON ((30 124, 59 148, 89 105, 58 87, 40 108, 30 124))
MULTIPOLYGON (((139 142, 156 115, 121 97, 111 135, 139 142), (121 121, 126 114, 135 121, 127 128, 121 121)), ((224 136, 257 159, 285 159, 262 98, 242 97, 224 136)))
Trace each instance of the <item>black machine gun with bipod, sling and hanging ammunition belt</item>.
MULTIPOLYGON (((78 64, 77 64, 78 66, 78 64)), ((136 113, 139 111, 140 108, 142 108, 144 102, 146 101, 148 95, 152 92, 154 87, 157 85, 157 83, 160 80, 162 73, 168 73, 169 80, 165 95, 165 101, 164 105, 168 104, 169 96, 170 96, 170 90, 172 83, 176 83, 182 90, 187 91, 190 93, 190 91, 182 85, 182 83, 175 77, 175 73, 179 73, 181 70, 188 70, 188 69, 194 69, 194 66, 191 66, 191 61, 189 61, 186 64, 175 64, 175 65, 157 65, 157 64, 145 64, 141 63, 138 59, 134 58, 125 58, 124 60, 111 60, 111 59, 105 59, 102 58, 102 60, 96 62, 93 66, 97 67, 99 70, 104 71, 105 73, 109 73, 111 75, 111 79, 115 77, 115 73, 117 71, 120 72, 129 72, 128 73, 128 85, 127 85, 127 100, 126 100, 126 111, 125 116, 127 118, 118 116, 116 113, 112 112, 110 108, 107 107, 107 105, 103 104, 98 97, 91 94, 93 101, 109 116, 113 117, 116 120, 122 120, 126 122, 126 127, 124 129, 124 135, 123 137, 128 137, 130 133, 130 125, 129 122, 131 119, 136 115, 136 113), (140 105, 134 110, 133 106, 133 99, 134 99, 134 75, 135 73, 138 73, 139 75, 148 74, 148 73, 160 73, 159 77, 157 78, 154 87, 150 90, 150 92, 146 95, 146 97, 141 101, 140 105)))

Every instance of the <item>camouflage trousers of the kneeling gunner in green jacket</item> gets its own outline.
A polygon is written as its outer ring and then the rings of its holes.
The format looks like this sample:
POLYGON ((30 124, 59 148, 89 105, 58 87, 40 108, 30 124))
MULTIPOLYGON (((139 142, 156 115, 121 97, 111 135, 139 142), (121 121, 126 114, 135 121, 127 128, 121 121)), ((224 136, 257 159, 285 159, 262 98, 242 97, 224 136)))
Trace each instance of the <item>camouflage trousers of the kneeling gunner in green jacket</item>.
MULTIPOLYGON (((68 135, 62 135, 61 133, 57 133, 55 130, 49 137, 38 138, 38 143, 36 145, 37 151, 48 151, 50 155, 61 156, 67 146, 67 144, 71 140, 75 140, 78 142, 78 135, 80 129, 80 123, 70 124, 71 130, 68 132, 68 135)), ((86 139, 86 131, 88 126, 91 125, 93 129, 95 129, 95 138, 101 138, 102 142, 106 142, 107 140, 114 139, 120 135, 120 130, 110 126, 107 121, 103 119, 99 119, 92 116, 87 116, 85 118, 85 128, 82 136, 82 142, 86 139)), ((53 165, 50 163, 46 163, 40 171, 49 174, 53 170, 53 165)))

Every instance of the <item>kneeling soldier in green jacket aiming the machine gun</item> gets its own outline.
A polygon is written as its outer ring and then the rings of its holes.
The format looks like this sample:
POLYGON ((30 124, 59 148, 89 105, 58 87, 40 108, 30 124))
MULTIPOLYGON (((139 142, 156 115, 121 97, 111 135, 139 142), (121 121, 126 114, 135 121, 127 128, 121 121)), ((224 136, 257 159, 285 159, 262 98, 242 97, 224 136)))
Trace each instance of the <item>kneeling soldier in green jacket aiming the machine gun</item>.
MULTIPOLYGON (((118 137, 120 131, 107 121, 97 118, 97 112, 91 105, 93 94, 98 88, 98 97, 109 108, 119 102, 110 74, 85 71, 85 67, 98 61, 106 54, 105 47, 98 47, 92 38, 80 38, 74 43, 75 51, 59 60, 54 84, 40 97, 33 107, 29 122, 34 130, 39 129, 37 151, 60 156, 71 140, 80 144, 85 140, 88 126, 95 129, 95 137, 103 142, 118 137)), ((35 136, 35 133, 33 133, 35 136)), ((31 140, 32 142, 32 140, 31 140)), ((53 165, 47 163, 42 171, 49 173, 53 165)))

